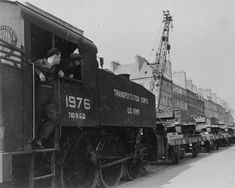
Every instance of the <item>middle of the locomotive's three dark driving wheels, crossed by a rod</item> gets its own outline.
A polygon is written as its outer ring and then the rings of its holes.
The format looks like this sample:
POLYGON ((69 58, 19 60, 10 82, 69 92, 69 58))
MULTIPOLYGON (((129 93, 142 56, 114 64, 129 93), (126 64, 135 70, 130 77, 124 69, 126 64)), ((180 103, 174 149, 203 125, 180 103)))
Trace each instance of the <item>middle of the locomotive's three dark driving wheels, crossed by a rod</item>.
POLYGON ((101 138, 96 150, 103 155, 99 159, 100 186, 106 188, 117 186, 122 176, 123 163, 120 162, 108 167, 102 167, 102 165, 121 159, 123 151, 120 143, 114 137, 104 136, 101 138))

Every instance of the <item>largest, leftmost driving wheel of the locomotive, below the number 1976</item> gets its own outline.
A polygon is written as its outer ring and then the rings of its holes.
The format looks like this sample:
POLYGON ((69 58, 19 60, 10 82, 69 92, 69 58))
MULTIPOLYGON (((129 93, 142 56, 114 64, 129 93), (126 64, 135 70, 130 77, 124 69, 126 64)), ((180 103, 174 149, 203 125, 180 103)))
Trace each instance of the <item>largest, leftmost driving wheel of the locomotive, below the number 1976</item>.
POLYGON ((82 133, 65 151, 61 182, 63 188, 94 188, 98 172, 95 161, 94 134, 82 133))

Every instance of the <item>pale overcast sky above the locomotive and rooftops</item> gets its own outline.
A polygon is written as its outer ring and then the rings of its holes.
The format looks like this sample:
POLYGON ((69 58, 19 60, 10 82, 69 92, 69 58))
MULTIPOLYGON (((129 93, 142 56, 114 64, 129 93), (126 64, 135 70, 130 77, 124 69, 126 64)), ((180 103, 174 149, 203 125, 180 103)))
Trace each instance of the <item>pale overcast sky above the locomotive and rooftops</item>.
MULTIPOLYGON (((24 2, 20 0, 20 2, 24 2)), ((211 88, 235 109, 234 0, 28 0, 84 30, 98 55, 121 64, 136 54, 151 60, 160 40, 162 10, 170 10, 173 71, 211 88), (152 54, 152 55, 151 55, 152 54)))

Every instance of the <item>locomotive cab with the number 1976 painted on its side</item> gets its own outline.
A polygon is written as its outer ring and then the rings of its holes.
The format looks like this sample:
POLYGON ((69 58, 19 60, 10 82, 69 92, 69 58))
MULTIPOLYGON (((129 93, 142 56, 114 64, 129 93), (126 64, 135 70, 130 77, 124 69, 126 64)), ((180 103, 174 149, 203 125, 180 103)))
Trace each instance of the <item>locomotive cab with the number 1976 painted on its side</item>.
POLYGON ((54 82, 56 100, 55 145, 60 126, 82 127, 97 123, 96 46, 83 31, 34 7, 0 1, 0 185, 32 186, 32 139, 37 134, 34 62, 52 47, 68 66, 76 49, 83 57, 80 79, 67 76, 54 82), (92 109, 91 109, 92 106, 92 109), (63 110, 61 110, 63 109, 63 110))

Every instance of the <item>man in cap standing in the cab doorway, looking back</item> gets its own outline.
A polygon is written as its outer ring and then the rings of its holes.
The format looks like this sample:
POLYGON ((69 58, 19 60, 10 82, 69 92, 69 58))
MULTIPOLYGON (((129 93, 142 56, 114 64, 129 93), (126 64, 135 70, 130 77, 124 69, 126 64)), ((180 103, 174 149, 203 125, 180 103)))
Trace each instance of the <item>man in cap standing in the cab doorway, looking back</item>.
POLYGON ((46 54, 47 59, 35 62, 35 104, 36 104, 36 137, 33 146, 42 148, 55 128, 55 104, 53 82, 64 73, 58 70, 61 53, 57 48, 50 49, 46 54))

